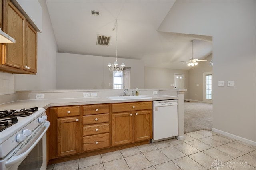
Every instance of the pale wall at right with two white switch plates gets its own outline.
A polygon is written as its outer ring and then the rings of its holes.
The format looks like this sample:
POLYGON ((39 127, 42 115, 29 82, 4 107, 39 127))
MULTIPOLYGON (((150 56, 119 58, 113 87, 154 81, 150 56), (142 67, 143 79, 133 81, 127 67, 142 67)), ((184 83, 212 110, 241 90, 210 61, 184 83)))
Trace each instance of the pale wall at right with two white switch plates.
POLYGON ((159 28, 213 36, 213 128, 254 142, 255 12, 256 1, 176 1, 159 28), (235 87, 227 87, 227 81, 235 81, 235 87))

